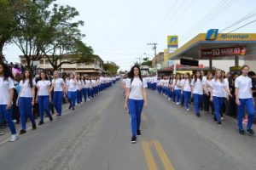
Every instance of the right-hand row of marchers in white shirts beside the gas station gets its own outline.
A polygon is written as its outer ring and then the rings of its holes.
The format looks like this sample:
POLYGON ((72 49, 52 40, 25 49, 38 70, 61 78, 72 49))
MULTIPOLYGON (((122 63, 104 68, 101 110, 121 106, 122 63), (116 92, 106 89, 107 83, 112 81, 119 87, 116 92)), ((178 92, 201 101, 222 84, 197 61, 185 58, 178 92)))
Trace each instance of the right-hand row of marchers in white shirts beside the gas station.
MULTIPOLYGON (((196 71, 195 75, 189 73, 172 75, 171 77, 147 77, 148 88, 157 90, 176 105, 185 107, 189 111, 191 101, 195 106, 195 115, 201 117, 201 109, 212 111, 213 120, 222 126, 223 106, 229 106, 232 115, 236 115, 238 132, 253 136, 254 104, 253 82, 248 77, 249 67, 241 67, 241 75, 225 77, 224 71, 217 70, 215 74, 204 75, 203 71, 196 71), (154 83, 156 82, 156 88, 154 83), (242 126, 245 108, 247 108, 247 129, 242 126), (237 109, 237 111, 236 111, 237 109), (236 113, 237 112, 237 113, 236 113)), ((226 108, 227 109, 227 108, 226 108)))

